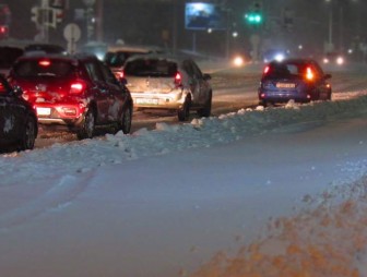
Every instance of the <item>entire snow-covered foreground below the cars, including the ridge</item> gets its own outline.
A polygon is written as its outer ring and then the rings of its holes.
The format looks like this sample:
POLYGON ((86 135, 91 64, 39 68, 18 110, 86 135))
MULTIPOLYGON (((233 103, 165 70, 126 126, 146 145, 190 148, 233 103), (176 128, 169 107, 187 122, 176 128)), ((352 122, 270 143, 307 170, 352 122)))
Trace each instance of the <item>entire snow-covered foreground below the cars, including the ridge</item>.
POLYGON ((3 154, 0 276, 367 276, 366 119, 289 103, 3 154))

